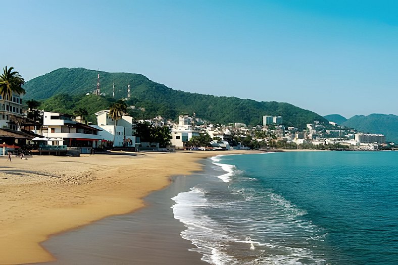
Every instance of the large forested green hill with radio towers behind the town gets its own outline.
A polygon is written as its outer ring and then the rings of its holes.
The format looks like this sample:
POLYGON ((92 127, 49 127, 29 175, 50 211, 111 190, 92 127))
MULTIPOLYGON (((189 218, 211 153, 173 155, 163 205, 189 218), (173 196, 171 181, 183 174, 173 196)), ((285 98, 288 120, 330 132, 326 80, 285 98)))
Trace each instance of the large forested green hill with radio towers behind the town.
MULTIPOLYGON (((255 101, 237 97, 225 97, 188 93, 173 90, 156 83, 143 75, 131 73, 107 73, 84 68, 60 68, 43 76, 29 80, 24 85, 26 99, 45 99, 42 108, 48 111, 71 112, 77 105, 90 109, 91 113, 101 110, 109 103, 127 96, 127 84, 131 86, 128 105, 145 108, 144 112, 133 111, 135 118, 153 118, 161 115, 176 118, 181 113, 195 112, 197 117, 217 123, 239 122, 250 125, 262 124, 262 116, 282 116, 286 126, 305 128, 307 123, 322 116, 295 107, 292 104, 275 101, 255 101), (101 92, 106 96, 84 96, 96 88, 97 74, 100 74, 101 92), (115 83, 115 99, 112 99, 112 84, 115 83), (55 97, 55 95, 62 94, 55 97), (47 99, 49 98, 49 99, 47 99), (83 100, 83 101, 81 101, 83 100), (101 101, 101 102, 98 102, 101 101), (96 107, 93 107, 94 104, 96 107), (67 106, 67 107, 63 107, 67 106)), ((89 111, 89 113, 90 113, 89 111)))

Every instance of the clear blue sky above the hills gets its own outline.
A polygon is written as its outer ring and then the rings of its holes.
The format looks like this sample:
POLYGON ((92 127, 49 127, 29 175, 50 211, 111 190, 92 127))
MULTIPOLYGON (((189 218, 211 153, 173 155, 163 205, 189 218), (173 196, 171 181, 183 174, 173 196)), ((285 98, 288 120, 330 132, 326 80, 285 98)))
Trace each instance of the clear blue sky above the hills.
POLYGON ((322 116, 398 115, 398 1, 1 2, 0 67, 26 81, 83 67, 322 116))

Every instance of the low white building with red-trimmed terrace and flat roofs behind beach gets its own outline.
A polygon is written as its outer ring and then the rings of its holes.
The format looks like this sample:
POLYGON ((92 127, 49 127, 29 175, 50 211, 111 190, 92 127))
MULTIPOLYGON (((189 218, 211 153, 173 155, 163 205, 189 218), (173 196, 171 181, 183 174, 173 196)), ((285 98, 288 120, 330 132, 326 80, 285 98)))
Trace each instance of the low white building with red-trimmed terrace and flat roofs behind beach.
POLYGON ((47 145, 66 147, 98 147, 101 129, 76 122, 71 115, 43 112, 40 134, 48 138, 47 145))

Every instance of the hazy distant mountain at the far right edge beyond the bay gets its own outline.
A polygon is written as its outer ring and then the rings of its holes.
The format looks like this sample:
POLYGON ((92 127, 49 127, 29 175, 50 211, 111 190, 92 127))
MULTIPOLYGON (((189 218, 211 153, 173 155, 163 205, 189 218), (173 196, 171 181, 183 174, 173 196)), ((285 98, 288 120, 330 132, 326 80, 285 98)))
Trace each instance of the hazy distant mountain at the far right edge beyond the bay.
POLYGON ((398 116, 386 114, 356 115, 341 125, 365 133, 380 133, 387 141, 398 142, 398 116))

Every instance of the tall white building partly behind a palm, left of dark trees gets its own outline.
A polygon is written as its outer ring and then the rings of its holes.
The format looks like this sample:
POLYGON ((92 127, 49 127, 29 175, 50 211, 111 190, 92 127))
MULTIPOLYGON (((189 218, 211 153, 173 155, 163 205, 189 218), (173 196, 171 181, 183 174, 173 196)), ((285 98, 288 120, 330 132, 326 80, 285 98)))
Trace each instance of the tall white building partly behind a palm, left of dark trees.
POLYGON ((135 147, 135 136, 132 129, 132 117, 122 116, 117 121, 112 119, 109 110, 95 113, 97 124, 91 125, 101 131, 98 132, 102 139, 102 145, 113 147, 135 147))

